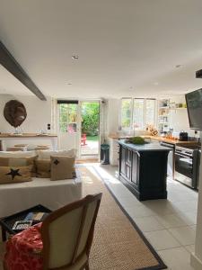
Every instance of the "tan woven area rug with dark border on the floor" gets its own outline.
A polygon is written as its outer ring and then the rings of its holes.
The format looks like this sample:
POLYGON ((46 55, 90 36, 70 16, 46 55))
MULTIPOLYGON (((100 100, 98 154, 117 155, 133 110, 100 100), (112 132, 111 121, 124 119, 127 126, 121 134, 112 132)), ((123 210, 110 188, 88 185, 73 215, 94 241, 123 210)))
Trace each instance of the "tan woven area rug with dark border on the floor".
POLYGON ((90 269, 165 269, 162 259, 110 193, 101 177, 93 173, 93 169, 90 171, 84 166, 78 169, 83 179, 83 195, 102 193, 92 243, 90 269))

